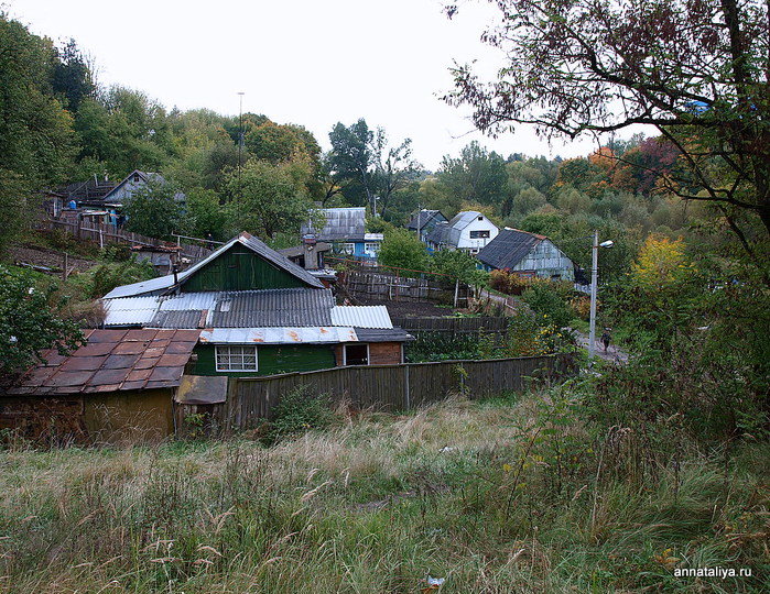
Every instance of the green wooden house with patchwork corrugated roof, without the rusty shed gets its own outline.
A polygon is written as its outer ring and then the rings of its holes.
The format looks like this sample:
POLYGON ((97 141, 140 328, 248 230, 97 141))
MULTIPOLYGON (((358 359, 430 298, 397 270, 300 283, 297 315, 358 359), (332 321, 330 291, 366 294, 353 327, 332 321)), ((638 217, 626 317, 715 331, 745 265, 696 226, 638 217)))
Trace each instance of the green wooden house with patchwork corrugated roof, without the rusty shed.
POLYGON ((308 271, 241 233, 176 275, 117 287, 105 328, 199 330, 194 375, 251 376, 403 362, 384 307, 337 306, 308 271))

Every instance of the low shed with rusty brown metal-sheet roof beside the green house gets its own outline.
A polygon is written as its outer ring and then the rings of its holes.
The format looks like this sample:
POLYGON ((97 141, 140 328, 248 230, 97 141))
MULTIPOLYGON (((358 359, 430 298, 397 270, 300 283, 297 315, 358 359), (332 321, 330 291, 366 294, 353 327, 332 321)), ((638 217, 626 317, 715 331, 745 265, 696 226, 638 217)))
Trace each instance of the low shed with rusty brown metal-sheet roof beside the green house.
POLYGON ((158 441, 173 432, 172 397, 199 330, 86 330, 69 356, 41 363, 0 394, 0 429, 31 440, 158 441))

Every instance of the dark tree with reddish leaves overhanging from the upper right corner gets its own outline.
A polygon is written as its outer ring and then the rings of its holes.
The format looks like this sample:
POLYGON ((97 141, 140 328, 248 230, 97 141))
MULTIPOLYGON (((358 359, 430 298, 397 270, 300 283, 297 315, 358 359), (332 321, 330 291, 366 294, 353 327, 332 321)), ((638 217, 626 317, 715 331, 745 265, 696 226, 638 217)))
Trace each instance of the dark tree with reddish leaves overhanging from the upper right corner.
POLYGON ((534 124, 547 138, 574 139, 652 125, 680 162, 663 172, 665 188, 715 205, 750 254, 767 241, 767 2, 489 1, 501 20, 482 40, 508 63, 491 81, 469 66, 454 68, 445 100, 470 106, 476 125, 491 134, 534 124))

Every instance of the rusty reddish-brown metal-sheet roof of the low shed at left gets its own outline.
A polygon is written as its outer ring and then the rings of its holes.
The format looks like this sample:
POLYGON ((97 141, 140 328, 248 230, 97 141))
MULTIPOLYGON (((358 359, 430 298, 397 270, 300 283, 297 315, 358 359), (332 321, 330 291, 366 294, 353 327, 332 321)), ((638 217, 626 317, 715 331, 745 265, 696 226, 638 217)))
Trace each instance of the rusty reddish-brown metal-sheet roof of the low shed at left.
POLYGON ((69 356, 42 353, 45 363, 9 389, 44 396, 153 389, 180 385, 199 330, 86 330, 86 343, 69 356))

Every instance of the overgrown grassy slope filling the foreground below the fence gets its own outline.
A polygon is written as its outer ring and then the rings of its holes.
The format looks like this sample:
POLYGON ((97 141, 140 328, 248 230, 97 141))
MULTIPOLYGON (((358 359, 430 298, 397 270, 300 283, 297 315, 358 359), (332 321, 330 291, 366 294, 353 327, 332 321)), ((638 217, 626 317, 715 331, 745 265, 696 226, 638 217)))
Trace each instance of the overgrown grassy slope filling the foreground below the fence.
POLYGON ((552 391, 338 414, 271 448, 12 446, 0 591, 417 592, 429 573, 443 592, 760 591, 770 449, 681 444, 646 469, 577 407, 552 391), (717 565, 755 579, 672 573, 717 565))

